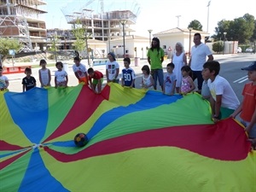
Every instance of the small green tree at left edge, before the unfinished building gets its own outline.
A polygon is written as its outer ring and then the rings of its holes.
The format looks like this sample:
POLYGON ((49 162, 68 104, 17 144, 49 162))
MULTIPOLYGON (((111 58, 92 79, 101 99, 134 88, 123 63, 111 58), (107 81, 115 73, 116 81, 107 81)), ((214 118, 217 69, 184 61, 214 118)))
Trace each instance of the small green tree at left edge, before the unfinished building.
POLYGON ((9 55, 9 49, 14 49, 17 53, 22 47, 20 41, 16 38, 0 38, 0 55, 4 61, 9 55))

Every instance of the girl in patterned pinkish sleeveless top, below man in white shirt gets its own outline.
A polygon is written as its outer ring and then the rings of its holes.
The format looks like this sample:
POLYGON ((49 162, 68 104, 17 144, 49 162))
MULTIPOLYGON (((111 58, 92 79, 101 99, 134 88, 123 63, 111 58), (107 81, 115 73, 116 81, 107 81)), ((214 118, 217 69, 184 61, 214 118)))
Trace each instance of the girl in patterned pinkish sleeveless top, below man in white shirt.
POLYGON ((191 78, 191 68, 189 66, 183 66, 181 68, 182 72, 182 85, 180 88, 180 94, 187 95, 190 93, 192 90, 195 90, 195 84, 193 82, 193 79, 191 78))

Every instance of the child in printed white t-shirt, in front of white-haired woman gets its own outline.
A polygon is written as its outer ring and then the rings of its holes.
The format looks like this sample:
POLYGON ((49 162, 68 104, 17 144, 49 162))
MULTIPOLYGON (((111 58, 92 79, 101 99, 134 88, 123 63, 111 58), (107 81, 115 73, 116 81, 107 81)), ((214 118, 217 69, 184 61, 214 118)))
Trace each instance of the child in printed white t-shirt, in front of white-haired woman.
POLYGON ((164 77, 164 90, 163 93, 166 95, 173 96, 176 87, 176 75, 173 73, 174 64, 168 63, 166 66, 167 73, 164 77))

